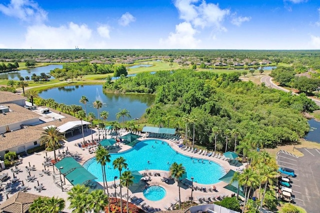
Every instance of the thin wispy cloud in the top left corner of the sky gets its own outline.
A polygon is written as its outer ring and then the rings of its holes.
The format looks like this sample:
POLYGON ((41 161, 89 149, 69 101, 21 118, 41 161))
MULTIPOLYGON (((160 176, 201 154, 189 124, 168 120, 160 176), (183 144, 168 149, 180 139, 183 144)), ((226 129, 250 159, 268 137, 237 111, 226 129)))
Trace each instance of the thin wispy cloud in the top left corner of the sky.
POLYGON ((47 12, 33 0, 11 0, 9 4, 0 4, 0 11, 23 21, 41 23, 47 19, 47 12))

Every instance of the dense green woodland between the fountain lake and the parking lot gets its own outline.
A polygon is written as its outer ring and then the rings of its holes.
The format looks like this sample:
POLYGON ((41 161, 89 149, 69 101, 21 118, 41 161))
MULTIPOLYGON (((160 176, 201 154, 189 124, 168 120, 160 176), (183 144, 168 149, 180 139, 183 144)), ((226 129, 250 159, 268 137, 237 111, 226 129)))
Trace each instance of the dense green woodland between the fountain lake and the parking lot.
POLYGON ((148 123, 182 131, 185 125, 192 129, 194 124, 196 141, 210 147, 217 134, 219 150, 234 148, 233 143, 226 144, 226 137, 229 141, 251 140, 259 146, 275 147, 295 141, 309 130, 300 112, 318 107, 304 94, 292 96, 241 82, 238 76, 236 72, 159 71, 120 78, 104 87, 155 93, 155 103, 145 114, 148 123))

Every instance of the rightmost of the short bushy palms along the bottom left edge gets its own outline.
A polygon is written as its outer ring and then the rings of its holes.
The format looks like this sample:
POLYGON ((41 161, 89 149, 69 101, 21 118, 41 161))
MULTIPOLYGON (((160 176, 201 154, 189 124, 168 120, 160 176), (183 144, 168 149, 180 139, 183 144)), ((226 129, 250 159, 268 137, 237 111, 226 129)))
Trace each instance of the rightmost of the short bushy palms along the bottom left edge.
POLYGON ((93 190, 87 200, 88 209, 93 210, 94 213, 104 212, 105 206, 109 204, 109 198, 103 190, 93 190))

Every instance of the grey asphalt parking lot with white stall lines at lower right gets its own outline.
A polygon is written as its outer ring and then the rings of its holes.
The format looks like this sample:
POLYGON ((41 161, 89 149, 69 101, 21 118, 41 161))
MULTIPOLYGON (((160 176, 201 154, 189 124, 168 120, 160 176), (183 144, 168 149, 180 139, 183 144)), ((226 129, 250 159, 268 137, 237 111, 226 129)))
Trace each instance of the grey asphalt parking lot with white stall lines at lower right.
POLYGON ((276 156, 279 167, 293 169, 296 177, 291 178, 292 195, 295 204, 308 213, 319 212, 320 197, 320 149, 298 148, 303 157, 297 157, 287 151, 280 150, 276 156))

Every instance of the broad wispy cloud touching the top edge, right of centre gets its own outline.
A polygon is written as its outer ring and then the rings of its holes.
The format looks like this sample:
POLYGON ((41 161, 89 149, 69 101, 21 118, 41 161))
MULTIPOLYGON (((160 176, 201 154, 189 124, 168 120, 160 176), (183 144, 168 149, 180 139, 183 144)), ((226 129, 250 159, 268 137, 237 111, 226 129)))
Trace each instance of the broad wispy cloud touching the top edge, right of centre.
POLYGON ((199 5, 195 5, 199 0, 175 0, 174 5, 179 11, 179 17, 184 21, 192 23, 195 27, 213 26, 217 30, 225 31, 221 25, 224 17, 230 13, 229 9, 221 9, 219 4, 206 3, 202 0, 199 5))

